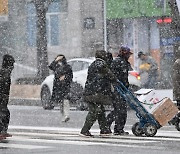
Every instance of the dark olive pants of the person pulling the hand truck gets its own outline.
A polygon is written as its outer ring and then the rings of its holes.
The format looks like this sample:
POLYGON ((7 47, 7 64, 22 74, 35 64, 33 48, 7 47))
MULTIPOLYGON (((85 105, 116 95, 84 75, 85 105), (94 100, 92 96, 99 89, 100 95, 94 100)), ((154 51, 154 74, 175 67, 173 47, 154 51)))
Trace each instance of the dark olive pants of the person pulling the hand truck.
POLYGON ((103 105, 97 105, 92 102, 87 102, 89 106, 89 112, 86 116, 86 120, 81 133, 88 132, 96 120, 98 120, 100 133, 107 132, 107 123, 105 117, 105 109, 103 105))

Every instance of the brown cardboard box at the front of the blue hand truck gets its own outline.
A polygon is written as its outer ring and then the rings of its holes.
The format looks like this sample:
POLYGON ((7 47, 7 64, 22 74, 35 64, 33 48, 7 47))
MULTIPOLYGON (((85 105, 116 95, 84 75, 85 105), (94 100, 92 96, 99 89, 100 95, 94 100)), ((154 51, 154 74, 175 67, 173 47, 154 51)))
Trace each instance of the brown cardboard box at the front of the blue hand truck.
POLYGON ((178 111, 178 108, 171 99, 164 98, 152 114, 159 124, 164 126, 178 113, 178 111))

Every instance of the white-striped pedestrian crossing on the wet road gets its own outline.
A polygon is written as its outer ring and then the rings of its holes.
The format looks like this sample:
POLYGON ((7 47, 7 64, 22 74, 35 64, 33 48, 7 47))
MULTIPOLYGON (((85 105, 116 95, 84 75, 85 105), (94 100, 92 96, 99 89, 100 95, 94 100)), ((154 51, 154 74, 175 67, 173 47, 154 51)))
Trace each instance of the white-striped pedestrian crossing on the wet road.
POLYGON ((79 132, 78 128, 10 126, 9 133, 13 137, 0 141, 0 153, 2 148, 35 150, 54 149, 63 145, 164 149, 164 146, 152 145, 160 145, 162 141, 180 143, 177 131, 159 130, 155 137, 137 137, 129 130, 128 136, 100 137, 99 130, 92 129, 94 138, 81 137, 79 132))

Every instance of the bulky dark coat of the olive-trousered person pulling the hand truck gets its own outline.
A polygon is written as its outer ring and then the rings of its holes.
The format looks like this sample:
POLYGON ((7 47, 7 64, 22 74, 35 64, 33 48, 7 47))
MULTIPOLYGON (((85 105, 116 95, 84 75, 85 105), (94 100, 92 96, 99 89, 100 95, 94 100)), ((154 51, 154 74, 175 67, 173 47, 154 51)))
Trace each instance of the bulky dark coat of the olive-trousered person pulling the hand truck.
POLYGON ((106 62, 97 58, 88 68, 88 76, 85 83, 84 96, 95 94, 111 94, 111 83, 116 81, 114 74, 108 68, 106 62))

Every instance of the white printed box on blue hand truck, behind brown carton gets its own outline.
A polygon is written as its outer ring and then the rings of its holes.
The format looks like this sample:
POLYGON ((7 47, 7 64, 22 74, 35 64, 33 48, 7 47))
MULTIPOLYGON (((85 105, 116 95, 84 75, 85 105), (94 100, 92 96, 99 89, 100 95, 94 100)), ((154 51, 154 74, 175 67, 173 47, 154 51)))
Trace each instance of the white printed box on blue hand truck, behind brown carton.
POLYGON ((136 91, 135 94, 149 113, 152 113, 159 105, 161 105, 161 100, 164 98, 153 89, 140 89, 136 91))

